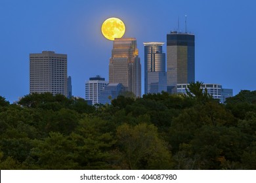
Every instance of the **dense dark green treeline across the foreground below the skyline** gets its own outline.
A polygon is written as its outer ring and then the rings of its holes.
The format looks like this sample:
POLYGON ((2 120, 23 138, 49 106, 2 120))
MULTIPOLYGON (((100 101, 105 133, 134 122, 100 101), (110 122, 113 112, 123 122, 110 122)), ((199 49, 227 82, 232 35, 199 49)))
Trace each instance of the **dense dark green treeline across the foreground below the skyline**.
POLYGON ((0 169, 256 169, 256 91, 223 105, 201 84, 95 107, 51 93, 0 97, 0 169))

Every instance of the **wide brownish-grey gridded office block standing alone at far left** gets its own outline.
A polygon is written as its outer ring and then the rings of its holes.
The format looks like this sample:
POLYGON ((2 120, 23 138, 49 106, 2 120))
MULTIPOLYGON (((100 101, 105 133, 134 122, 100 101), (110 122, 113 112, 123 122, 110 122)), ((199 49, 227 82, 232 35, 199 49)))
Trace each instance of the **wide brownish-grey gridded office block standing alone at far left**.
POLYGON ((30 54, 30 93, 45 92, 68 96, 66 54, 30 54))

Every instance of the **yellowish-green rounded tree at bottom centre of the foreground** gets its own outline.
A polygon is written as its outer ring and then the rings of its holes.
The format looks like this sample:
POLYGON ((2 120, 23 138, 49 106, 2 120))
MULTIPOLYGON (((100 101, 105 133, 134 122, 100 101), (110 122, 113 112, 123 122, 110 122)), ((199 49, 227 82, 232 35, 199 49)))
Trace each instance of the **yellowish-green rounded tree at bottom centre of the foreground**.
POLYGON ((117 128, 117 144, 129 169, 171 169, 173 161, 166 142, 154 125, 123 124, 117 128))

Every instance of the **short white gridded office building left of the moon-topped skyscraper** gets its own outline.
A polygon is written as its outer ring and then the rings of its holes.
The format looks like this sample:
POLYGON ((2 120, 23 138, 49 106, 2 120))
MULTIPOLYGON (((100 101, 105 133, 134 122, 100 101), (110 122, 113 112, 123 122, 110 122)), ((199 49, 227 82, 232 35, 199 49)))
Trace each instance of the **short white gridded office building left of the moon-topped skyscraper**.
POLYGON ((100 76, 89 78, 89 81, 85 82, 85 100, 92 101, 93 105, 99 103, 100 92, 104 90, 107 84, 105 78, 100 76))

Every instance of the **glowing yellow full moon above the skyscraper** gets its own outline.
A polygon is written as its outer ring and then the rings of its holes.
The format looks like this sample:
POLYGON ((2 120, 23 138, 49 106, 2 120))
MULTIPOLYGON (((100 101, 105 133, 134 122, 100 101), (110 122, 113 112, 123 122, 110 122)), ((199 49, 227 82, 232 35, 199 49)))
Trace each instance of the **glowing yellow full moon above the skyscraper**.
POLYGON ((101 26, 101 32, 106 39, 114 41, 125 34, 125 24, 119 18, 108 18, 101 26))

